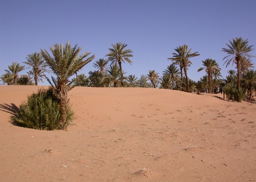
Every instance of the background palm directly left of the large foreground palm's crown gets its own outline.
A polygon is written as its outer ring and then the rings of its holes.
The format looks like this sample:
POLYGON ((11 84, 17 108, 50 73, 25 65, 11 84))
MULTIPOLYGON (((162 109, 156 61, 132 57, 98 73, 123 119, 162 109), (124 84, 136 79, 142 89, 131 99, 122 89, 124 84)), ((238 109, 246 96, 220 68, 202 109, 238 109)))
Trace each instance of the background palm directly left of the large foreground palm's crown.
POLYGON ((43 56, 38 52, 35 52, 33 54, 28 54, 28 56, 26 57, 26 60, 27 61, 23 63, 32 67, 32 71, 30 73, 34 77, 35 84, 38 85, 38 81, 39 80, 43 81, 42 78, 46 76, 44 72, 49 72, 46 69, 47 64, 44 62, 43 56))

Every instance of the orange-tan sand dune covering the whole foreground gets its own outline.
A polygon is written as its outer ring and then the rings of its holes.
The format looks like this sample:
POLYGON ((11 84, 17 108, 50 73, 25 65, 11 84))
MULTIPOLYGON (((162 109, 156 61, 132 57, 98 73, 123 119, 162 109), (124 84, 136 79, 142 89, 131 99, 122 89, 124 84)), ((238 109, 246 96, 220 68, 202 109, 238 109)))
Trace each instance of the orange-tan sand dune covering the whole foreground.
MULTIPOLYGON (((0 104, 37 89, 0 86, 0 104)), ((67 131, 13 126, 0 108, 0 181, 256 181, 256 104, 144 88, 75 87, 69 98, 67 131)))

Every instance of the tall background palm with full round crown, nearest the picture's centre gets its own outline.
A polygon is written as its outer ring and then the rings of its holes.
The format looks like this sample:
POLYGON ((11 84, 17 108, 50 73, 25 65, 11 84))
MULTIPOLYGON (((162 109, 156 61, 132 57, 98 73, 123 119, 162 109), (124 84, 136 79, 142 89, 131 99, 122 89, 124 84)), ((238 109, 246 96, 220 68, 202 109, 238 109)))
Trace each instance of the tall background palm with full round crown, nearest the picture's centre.
MULTIPOLYGON (((122 70, 122 62, 125 63, 132 63, 130 57, 133 57, 131 54, 131 49, 125 49, 127 45, 121 42, 116 43, 115 45, 112 44, 113 48, 108 48, 109 53, 106 55, 108 56, 108 60, 112 61, 112 64, 118 64, 121 76, 123 77, 123 70, 122 70)), ((121 80, 121 85, 124 86, 123 80, 121 80)))

